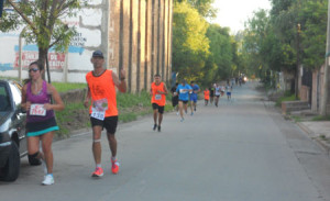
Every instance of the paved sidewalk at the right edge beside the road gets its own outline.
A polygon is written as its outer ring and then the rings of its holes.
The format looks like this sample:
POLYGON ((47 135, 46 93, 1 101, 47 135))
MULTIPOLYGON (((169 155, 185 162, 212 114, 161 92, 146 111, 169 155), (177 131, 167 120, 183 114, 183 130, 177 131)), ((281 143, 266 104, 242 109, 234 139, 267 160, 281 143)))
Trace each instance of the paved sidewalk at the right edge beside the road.
POLYGON ((306 121, 297 124, 327 152, 330 150, 330 121, 306 121))

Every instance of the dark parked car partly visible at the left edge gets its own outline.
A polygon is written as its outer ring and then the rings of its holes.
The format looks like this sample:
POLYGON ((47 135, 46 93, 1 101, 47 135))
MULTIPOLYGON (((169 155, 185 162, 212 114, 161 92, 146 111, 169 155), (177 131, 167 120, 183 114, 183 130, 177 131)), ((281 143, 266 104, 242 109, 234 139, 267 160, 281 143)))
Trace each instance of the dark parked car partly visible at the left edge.
POLYGON ((28 153, 21 89, 18 81, 0 80, 0 180, 3 181, 16 180, 21 157, 28 153))

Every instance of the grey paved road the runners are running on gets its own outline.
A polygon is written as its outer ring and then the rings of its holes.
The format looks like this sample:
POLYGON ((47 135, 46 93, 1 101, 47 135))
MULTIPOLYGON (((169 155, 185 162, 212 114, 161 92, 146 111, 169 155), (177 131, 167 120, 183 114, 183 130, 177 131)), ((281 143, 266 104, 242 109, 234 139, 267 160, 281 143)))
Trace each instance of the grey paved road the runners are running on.
POLYGON ((101 179, 90 177, 90 133, 56 142, 56 183, 42 187, 42 168, 24 158, 20 178, 0 182, 0 200, 330 200, 327 154, 263 102, 255 85, 234 88, 233 100, 221 98, 219 108, 199 101, 185 122, 166 113, 161 133, 152 131, 151 116, 121 124, 119 175, 110 172, 106 141, 101 179))

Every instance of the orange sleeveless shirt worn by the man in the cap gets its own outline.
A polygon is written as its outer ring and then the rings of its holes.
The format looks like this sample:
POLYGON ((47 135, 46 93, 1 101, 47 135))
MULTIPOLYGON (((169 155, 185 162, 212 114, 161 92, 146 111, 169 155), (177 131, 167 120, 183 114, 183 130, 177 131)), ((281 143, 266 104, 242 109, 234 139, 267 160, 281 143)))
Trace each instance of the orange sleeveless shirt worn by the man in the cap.
MULTIPOLYGON (((112 80, 112 70, 106 69, 105 72, 98 77, 95 77, 92 71, 90 71, 86 75, 86 81, 91 93, 91 105, 94 105, 96 101, 106 99, 108 109, 106 110, 105 116, 117 116, 116 86, 112 80)), ((89 114, 91 114, 91 105, 89 108, 89 114)))

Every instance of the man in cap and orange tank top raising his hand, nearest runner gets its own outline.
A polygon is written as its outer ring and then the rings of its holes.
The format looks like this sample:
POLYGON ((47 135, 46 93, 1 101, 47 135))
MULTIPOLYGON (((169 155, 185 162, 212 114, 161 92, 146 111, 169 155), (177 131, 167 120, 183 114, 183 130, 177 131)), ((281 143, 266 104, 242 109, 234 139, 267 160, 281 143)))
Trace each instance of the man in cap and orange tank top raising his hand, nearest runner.
POLYGON ((127 91, 125 70, 120 70, 120 78, 112 70, 103 68, 105 57, 102 52, 96 51, 90 59, 94 70, 86 75, 88 92, 84 105, 89 107, 90 123, 92 126, 92 154, 96 169, 92 177, 102 177, 101 167, 101 132, 106 127, 108 142, 111 150, 111 171, 118 174, 119 163, 117 161, 117 139, 114 133, 118 123, 118 110, 116 100, 116 87, 127 91))

